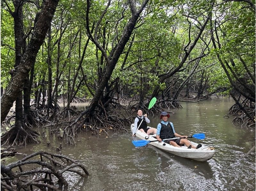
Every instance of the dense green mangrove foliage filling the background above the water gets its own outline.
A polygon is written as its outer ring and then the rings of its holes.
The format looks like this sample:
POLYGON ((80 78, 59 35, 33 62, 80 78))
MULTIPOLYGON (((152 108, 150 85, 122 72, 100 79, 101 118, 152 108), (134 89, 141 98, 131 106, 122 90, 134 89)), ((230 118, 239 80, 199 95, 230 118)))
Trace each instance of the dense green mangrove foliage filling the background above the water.
MULTIPOLYGON (((21 6, 23 39, 28 44, 42 2, 23 1, 21 6)), ((15 69, 13 10, 12 2, 1 2, 3 90, 15 69)), ((30 96, 35 102, 39 96, 43 106, 48 99, 48 117, 51 104, 56 105, 55 95, 69 108, 74 99, 96 99, 102 85, 100 101, 105 109, 116 99, 200 100, 218 94, 243 96, 255 108, 255 4, 62 0, 33 67, 30 96), (142 5, 112 72, 110 63, 116 59, 127 23, 142 5)))

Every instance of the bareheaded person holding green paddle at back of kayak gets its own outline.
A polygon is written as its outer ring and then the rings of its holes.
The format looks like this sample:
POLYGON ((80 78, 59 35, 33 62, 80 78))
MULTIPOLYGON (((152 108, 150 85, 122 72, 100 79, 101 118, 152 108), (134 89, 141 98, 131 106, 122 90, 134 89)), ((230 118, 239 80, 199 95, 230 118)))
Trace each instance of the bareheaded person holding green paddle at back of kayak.
POLYGON ((142 116, 143 112, 141 109, 137 110, 137 117, 134 120, 134 127, 133 127, 133 132, 132 132, 132 136, 135 136, 136 130, 139 127, 139 130, 142 133, 145 134, 156 134, 156 128, 149 128, 147 123, 150 123, 150 120, 147 118, 147 114, 144 115, 144 117, 142 116), (142 121, 142 123, 140 124, 140 122, 142 121))

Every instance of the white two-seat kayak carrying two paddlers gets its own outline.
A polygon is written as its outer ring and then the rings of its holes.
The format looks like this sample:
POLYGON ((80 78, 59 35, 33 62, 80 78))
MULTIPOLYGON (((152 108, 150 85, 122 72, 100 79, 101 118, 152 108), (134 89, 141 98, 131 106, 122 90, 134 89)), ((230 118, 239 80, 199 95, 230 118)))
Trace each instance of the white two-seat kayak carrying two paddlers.
MULTIPOLYGON (((131 125, 131 131, 133 131, 134 123, 131 125)), ((149 126, 148 126, 149 127, 149 126)), ((151 127, 149 127, 151 128, 151 127)), ((155 141, 156 138, 154 138, 155 135, 147 135, 145 133, 142 133, 141 131, 137 130, 136 137, 142 139, 142 140, 148 140, 148 141, 155 141), (146 139, 148 138, 148 139, 146 139)), ((190 141, 190 140, 189 140, 190 141)), ((198 143, 190 141, 191 144, 193 144, 195 147, 198 145, 198 143)), ((155 141, 155 142, 149 142, 148 144, 151 144, 159 149, 162 149, 164 151, 167 151, 169 153, 172 153, 174 155, 184 157, 184 158, 191 158, 196 161, 207 161, 213 157, 215 154, 215 150, 212 147, 209 147, 207 145, 203 145, 202 147, 198 149, 188 149, 186 146, 181 146, 181 147, 174 147, 170 144, 155 141)))

